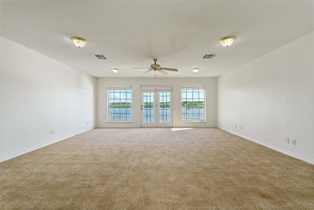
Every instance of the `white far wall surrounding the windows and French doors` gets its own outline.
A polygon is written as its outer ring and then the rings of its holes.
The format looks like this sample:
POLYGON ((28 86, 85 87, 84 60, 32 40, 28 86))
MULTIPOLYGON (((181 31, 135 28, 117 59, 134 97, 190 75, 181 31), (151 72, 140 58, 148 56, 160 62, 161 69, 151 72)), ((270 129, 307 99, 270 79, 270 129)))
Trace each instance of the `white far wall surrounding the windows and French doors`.
POLYGON ((97 78, 97 125, 140 127, 140 87, 173 86, 173 127, 216 126, 216 78, 97 78), (132 85, 132 122, 107 122, 107 86, 132 85), (206 85, 206 122, 181 122, 181 87, 206 85))

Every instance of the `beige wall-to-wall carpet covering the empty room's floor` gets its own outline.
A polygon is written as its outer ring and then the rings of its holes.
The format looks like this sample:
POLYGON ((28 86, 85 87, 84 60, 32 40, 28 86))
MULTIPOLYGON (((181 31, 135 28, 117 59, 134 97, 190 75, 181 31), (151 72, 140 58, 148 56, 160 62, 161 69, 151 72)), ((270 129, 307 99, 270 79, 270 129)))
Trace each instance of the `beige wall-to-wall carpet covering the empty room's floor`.
POLYGON ((217 128, 94 129, 0 164, 0 209, 314 209, 314 165, 217 128))

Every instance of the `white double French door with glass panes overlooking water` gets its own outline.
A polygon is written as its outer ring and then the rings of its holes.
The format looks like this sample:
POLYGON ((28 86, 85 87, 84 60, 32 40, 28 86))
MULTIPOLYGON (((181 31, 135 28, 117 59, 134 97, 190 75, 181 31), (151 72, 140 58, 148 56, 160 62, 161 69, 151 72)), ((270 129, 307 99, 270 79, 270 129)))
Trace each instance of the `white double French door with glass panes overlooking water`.
POLYGON ((172 127, 172 86, 141 86, 141 127, 172 127))

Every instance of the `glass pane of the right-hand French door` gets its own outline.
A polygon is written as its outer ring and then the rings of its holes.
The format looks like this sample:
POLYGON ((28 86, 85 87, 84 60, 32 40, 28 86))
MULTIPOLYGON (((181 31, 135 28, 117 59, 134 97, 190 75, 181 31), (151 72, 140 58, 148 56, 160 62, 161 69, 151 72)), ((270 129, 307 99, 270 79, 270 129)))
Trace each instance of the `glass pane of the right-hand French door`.
POLYGON ((170 122, 170 92, 159 92, 159 122, 170 122))

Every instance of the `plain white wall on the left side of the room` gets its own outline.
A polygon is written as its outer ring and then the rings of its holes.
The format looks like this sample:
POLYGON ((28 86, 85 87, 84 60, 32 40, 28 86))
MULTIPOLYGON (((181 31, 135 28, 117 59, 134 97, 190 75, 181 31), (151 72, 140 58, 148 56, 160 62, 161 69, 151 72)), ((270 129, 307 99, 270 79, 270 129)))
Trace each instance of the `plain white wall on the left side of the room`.
POLYGON ((96 78, 3 37, 0 55, 1 160, 96 125, 96 78))

